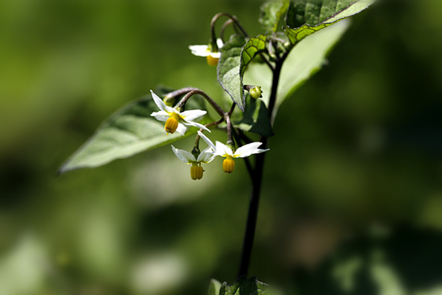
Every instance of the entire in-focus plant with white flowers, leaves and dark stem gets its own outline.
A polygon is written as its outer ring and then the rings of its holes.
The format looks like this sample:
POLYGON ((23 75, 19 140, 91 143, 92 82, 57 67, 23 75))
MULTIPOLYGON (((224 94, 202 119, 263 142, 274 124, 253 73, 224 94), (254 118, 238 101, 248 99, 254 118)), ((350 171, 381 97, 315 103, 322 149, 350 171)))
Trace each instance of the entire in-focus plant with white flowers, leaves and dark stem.
MULTIPOLYGON (((196 56, 206 57, 209 65, 217 66, 218 81, 230 96, 231 107, 224 110, 201 89, 151 90, 150 95, 129 103, 108 118, 61 166, 59 173, 98 167, 195 133, 194 145, 189 150, 171 147, 181 161, 191 165, 193 180, 203 177, 201 164, 208 164, 216 156, 225 157, 222 169, 226 173, 234 171, 234 158, 244 158, 252 187, 239 279, 231 286, 212 280, 209 294, 275 294, 256 278, 245 276, 255 233, 264 158, 269 151, 268 139, 274 135, 272 125, 277 109, 320 69, 326 54, 348 28, 348 21, 340 21, 373 2, 269 1, 261 6, 258 19, 265 32, 254 37, 248 35, 236 16, 216 14, 210 24, 208 44, 191 45, 189 49, 196 56), (221 19, 224 23, 217 33, 215 25, 221 19), (228 26, 233 27, 234 33, 225 38, 228 26), (208 108, 219 117, 212 119, 208 108), (239 111, 234 113, 237 108, 239 111), (207 137, 213 128, 226 132, 225 144, 213 144, 207 137), (258 134, 259 141, 252 142, 249 133, 258 134), (202 152, 200 138, 208 145, 202 152)), ((214 168, 207 169, 210 173, 214 168)))

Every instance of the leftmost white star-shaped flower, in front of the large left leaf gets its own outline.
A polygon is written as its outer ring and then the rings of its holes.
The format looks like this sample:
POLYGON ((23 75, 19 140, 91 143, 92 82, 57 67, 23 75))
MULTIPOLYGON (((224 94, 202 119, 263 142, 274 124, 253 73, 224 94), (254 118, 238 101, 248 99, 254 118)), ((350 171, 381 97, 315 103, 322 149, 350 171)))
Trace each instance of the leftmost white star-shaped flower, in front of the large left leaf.
POLYGON ((155 117, 159 121, 166 122, 164 129, 166 130, 167 134, 169 134, 169 132, 174 133, 175 131, 177 131, 179 134, 184 135, 187 130, 186 126, 195 126, 210 132, 210 130, 207 129, 206 126, 200 123, 193 122, 193 120, 204 116, 207 113, 206 111, 189 110, 179 112, 174 108, 166 106, 163 100, 158 97, 158 95, 155 94, 152 90, 150 90, 150 92, 152 93, 152 98, 155 104, 158 106, 158 108, 160 108, 159 112, 153 112, 152 114, 150 114, 150 116, 155 117))

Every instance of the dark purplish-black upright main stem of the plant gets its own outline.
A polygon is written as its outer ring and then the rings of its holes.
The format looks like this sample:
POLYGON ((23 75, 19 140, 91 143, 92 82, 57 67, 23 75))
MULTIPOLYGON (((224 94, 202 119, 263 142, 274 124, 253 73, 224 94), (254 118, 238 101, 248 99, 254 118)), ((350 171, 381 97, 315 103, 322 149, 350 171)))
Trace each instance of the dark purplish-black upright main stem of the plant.
MULTIPOLYGON (((275 68, 273 70, 273 80, 272 80, 272 90, 269 99, 269 117, 274 118, 273 111, 275 109, 276 93, 279 83, 279 75, 281 73, 281 67, 284 59, 276 61, 275 68)), ((259 148, 267 148, 268 137, 261 137, 260 142, 262 145, 259 148)), ((258 218, 258 207, 259 207, 259 196, 261 194, 261 182, 262 173, 264 168, 264 158, 266 153, 259 153, 256 155, 255 169, 251 175, 252 180, 252 191, 249 203, 249 213, 246 222, 246 233, 244 234, 243 250, 241 254, 241 264, 238 272, 238 277, 247 276, 247 271, 249 269, 249 262, 251 256, 251 249, 253 246, 253 239, 255 237, 256 231, 256 220, 258 218)))

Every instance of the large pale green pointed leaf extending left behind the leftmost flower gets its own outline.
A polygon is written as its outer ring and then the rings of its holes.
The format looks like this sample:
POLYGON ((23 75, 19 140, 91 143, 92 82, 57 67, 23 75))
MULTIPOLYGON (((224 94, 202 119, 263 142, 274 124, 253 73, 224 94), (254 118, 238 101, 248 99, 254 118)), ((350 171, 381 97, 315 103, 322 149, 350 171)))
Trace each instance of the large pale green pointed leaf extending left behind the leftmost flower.
MULTIPOLYGON (((168 92, 168 91, 167 91, 168 92)), ((161 93, 156 91, 161 97, 161 93)), ((204 110, 202 97, 192 97, 186 104, 187 109, 204 110)), ((175 132, 166 135, 164 122, 151 117, 158 107, 150 94, 133 101, 110 118, 105 120, 84 144, 58 170, 58 174, 81 168, 93 168, 105 165, 115 159, 127 158, 136 153, 157 148, 183 136, 175 132)), ((208 118, 201 124, 207 123, 208 118)), ((184 136, 196 133, 198 128, 189 128, 184 136)))

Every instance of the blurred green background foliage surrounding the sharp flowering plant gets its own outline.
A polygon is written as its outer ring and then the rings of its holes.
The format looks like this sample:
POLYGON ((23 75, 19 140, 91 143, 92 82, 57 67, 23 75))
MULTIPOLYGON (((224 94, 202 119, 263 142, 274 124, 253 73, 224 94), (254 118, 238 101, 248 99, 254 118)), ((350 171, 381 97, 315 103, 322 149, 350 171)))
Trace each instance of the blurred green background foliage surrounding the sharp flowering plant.
MULTIPOLYGON (((225 175, 215 160, 192 181, 166 146, 55 172, 157 84, 221 100, 216 69, 187 46, 207 42, 221 11, 261 32, 260 3, 0 2, 0 294, 205 294, 212 277, 233 283, 243 163, 225 175)), ((297 294, 442 294, 441 11, 439 0, 381 0, 283 104, 249 275, 297 294)))

